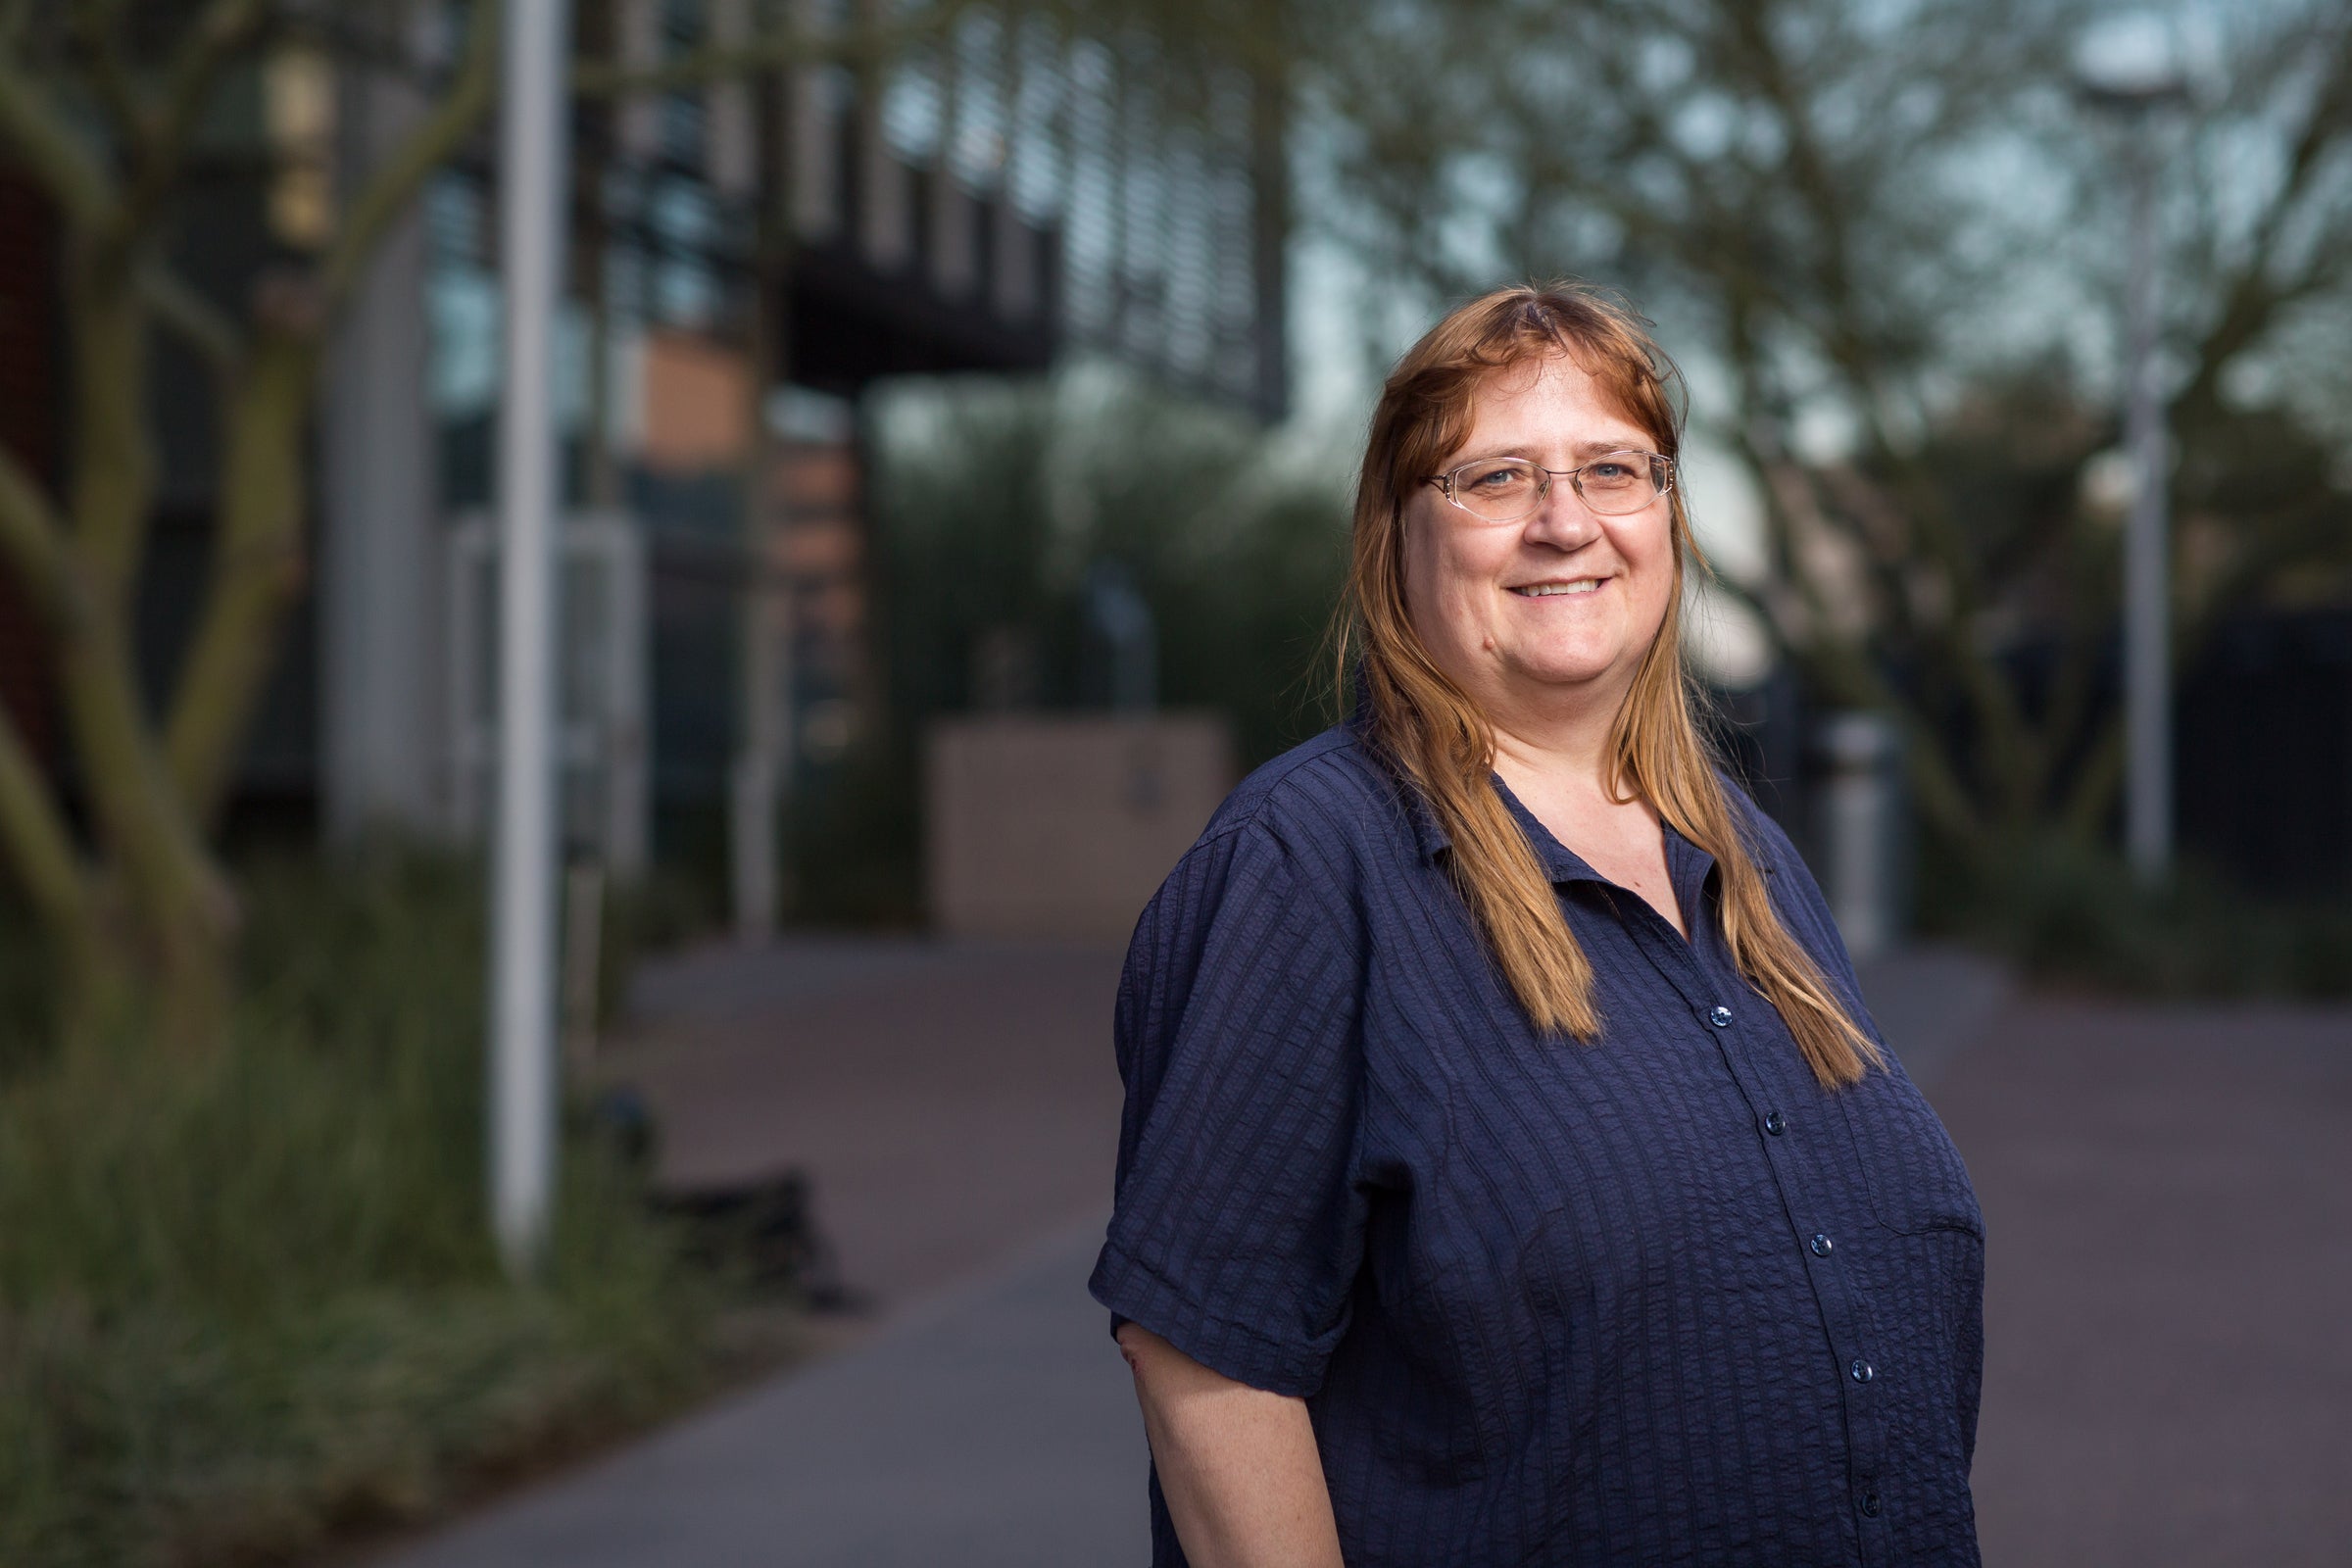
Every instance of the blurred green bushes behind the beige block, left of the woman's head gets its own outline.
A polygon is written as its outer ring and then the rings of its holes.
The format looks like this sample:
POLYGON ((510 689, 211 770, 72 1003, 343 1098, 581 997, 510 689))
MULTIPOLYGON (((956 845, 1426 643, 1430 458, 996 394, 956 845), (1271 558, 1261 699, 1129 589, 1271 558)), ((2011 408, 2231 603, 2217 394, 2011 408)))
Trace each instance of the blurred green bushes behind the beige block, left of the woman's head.
POLYGON ((875 512, 894 717, 976 705, 1009 632, 1033 701, 1105 701, 1089 569, 1152 607, 1164 708, 1228 712, 1251 762, 1322 729, 1315 654, 1345 571, 1345 480, 1244 418, 1110 369, 1054 383, 924 383, 877 421, 875 512))

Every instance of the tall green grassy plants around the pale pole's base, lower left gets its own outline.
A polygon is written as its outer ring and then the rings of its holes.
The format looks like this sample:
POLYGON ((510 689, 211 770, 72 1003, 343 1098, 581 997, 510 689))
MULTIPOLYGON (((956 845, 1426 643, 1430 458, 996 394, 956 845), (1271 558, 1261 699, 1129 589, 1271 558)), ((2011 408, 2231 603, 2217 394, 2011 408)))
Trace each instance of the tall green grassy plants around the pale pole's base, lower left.
POLYGON ((475 882, 263 870, 228 1051, 0 1091, 0 1561, 287 1561, 722 1371, 727 1291, 576 1117, 546 1281, 501 1279, 475 882))

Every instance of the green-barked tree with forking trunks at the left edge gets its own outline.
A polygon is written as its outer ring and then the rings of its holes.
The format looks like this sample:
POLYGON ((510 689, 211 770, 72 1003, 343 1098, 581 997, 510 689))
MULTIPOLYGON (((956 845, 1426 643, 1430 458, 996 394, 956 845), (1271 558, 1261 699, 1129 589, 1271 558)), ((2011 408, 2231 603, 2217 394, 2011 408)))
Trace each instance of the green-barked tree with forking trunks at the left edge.
MULTIPOLYGON (((868 7, 828 35, 769 16, 767 28, 642 71, 581 59, 574 87, 621 96, 804 61, 873 63, 957 9, 941 0, 884 19, 868 7)), ((78 827, 0 715, 0 865, 54 943, 73 1034, 136 1006, 183 1041, 216 1034, 238 903, 214 832, 303 583, 306 437, 325 350, 386 233, 480 134, 499 26, 496 0, 0 5, 0 158, 35 181, 64 233, 71 388, 54 487, 0 451, 0 569, 45 630, 87 818, 78 827), (433 59, 414 24, 452 16, 456 38, 433 59), (400 73, 430 106, 348 193, 318 247, 282 249, 242 299, 214 299, 176 268, 191 193, 278 181, 310 155, 221 129, 289 52, 400 73), (132 595, 160 480, 158 329, 209 369, 219 491, 195 630, 151 712, 132 595)))

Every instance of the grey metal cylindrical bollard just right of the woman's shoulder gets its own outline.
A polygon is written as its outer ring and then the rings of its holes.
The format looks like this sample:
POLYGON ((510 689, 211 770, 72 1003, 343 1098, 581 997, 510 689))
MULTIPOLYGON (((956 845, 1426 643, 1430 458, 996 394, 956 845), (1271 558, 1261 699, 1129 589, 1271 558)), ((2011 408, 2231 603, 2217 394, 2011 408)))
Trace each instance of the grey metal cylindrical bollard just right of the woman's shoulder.
POLYGON ((1856 961, 1903 940, 1903 738, 1877 712, 1839 712, 1816 731, 1820 891, 1856 961))

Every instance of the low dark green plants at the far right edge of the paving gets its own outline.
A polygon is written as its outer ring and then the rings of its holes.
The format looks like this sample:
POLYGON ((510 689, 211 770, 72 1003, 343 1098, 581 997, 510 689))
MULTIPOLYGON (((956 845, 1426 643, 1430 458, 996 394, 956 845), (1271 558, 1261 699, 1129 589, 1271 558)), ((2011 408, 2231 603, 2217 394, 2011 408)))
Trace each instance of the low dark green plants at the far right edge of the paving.
POLYGON ((2258 900, 2199 867, 2140 891, 2107 849, 2067 837, 1926 879, 1929 924, 2037 980, 2131 997, 2352 997, 2352 900, 2258 900))

